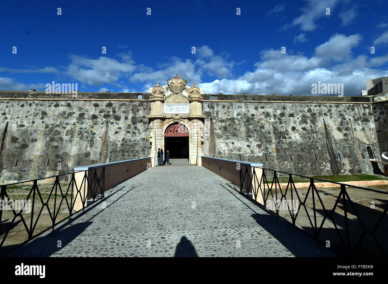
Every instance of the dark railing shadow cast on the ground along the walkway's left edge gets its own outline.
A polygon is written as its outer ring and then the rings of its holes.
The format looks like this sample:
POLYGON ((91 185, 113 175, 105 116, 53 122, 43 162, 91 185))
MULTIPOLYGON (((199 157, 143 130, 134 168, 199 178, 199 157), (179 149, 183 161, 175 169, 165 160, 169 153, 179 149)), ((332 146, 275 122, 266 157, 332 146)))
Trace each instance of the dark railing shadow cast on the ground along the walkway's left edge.
MULTIPOLYGON (((33 238, 32 240, 25 241, 21 244, 15 244, 10 246, 3 246, 3 250, 5 253, 2 256, 5 257, 48 257, 54 254, 57 251, 62 250, 73 241, 77 236, 79 236, 83 231, 87 229, 87 227, 92 224, 92 219, 99 215, 106 208, 111 207, 114 203, 116 203, 120 198, 122 198, 125 194, 132 191, 134 188, 139 187, 140 185, 134 185, 132 188, 128 189, 125 193, 118 196, 116 200, 112 201, 109 205, 104 208, 101 208, 97 213, 91 215, 90 218, 81 223, 71 224, 75 220, 83 217, 85 214, 89 213, 91 210, 97 208, 102 204, 103 201, 108 198, 113 197, 115 194, 120 192, 125 186, 115 186, 111 189, 105 191, 104 199, 100 201, 96 201, 93 204, 89 205, 85 208, 85 210, 80 210, 77 213, 71 215, 71 217, 62 220, 61 224, 57 224, 57 227, 52 232, 43 232, 41 235, 33 238), (44 234, 46 233, 46 234, 44 234), (61 247, 58 247, 58 241, 61 241, 61 247), (23 247, 22 247, 23 246, 23 247), (19 250, 18 250, 19 249, 19 250)), ((99 196, 97 196, 98 198, 99 196)), ((49 228, 50 229, 50 228, 49 228)))

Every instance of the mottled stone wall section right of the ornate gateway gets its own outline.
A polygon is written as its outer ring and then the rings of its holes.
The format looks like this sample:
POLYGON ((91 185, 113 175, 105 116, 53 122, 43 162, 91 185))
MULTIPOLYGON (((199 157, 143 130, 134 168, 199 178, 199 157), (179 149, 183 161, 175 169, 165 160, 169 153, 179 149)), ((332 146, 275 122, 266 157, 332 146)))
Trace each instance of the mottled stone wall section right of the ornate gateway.
POLYGON ((371 105, 204 102, 203 114, 205 155, 307 176, 373 173, 371 105))

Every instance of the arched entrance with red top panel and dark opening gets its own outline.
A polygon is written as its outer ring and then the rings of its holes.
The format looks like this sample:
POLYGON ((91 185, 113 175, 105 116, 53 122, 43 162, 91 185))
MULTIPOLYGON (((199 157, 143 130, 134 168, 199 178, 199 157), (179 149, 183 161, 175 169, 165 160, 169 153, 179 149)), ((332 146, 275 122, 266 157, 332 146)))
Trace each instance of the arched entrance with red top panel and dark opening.
POLYGON ((165 152, 171 159, 189 159, 189 130, 180 123, 170 124, 165 131, 165 152))

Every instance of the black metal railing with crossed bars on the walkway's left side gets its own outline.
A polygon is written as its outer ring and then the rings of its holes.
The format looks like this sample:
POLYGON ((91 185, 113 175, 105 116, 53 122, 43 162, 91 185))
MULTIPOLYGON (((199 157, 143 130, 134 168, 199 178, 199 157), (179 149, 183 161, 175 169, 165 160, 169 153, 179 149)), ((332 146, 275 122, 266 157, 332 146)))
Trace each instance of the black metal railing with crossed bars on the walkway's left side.
POLYGON ((84 211, 88 205, 95 201, 102 201, 104 198, 104 183, 105 167, 2 185, 0 192, 0 254, 36 238, 49 229, 54 231, 55 226, 62 221, 81 210, 84 211), (82 172, 81 184, 79 181, 77 184, 75 175, 82 172), (51 179, 54 179, 54 181, 51 181, 51 179), (31 183, 32 186, 29 189, 31 183), (18 194, 23 191, 20 187, 26 186, 26 184, 28 188, 23 189, 26 195, 26 198, 23 198, 24 204, 21 209, 19 208, 20 210, 16 210, 16 200, 12 200, 10 197, 12 195, 20 196, 18 194), (48 196, 46 196, 47 194, 48 196), (77 202, 78 209, 74 210, 75 200, 81 201, 82 208, 79 208, 80 204, 77 202), (31 213, 25 210, 29 201, 31 201, 31 213), (36 226, 42 219, 44 208, 48 211, 44 215, 48 215, 50 219, 46 220, 43 229, 37 230, 36 226), (8 216, 5 216, 5 213, 8 216), (60 213, 62 214, 61 217, 59 217, 60 213), (18 217, 20 220, 16 222, 18 217), (12 233, 12 236, 10 236, 10 233, 12 233), (15 236, 24 236, 24 238, 16 238, 15 236), (3 247, 4 245, 8 248, 3 247))

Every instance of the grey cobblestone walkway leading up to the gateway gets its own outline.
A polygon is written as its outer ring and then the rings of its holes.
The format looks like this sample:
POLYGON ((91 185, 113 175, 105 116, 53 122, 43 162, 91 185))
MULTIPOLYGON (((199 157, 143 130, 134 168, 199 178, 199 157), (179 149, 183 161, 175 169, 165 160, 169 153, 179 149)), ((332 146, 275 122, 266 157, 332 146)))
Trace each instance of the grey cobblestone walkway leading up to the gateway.
POLYGON ((8 256, 335 256, 228 184, 203 167, 154 167, 8 256))

